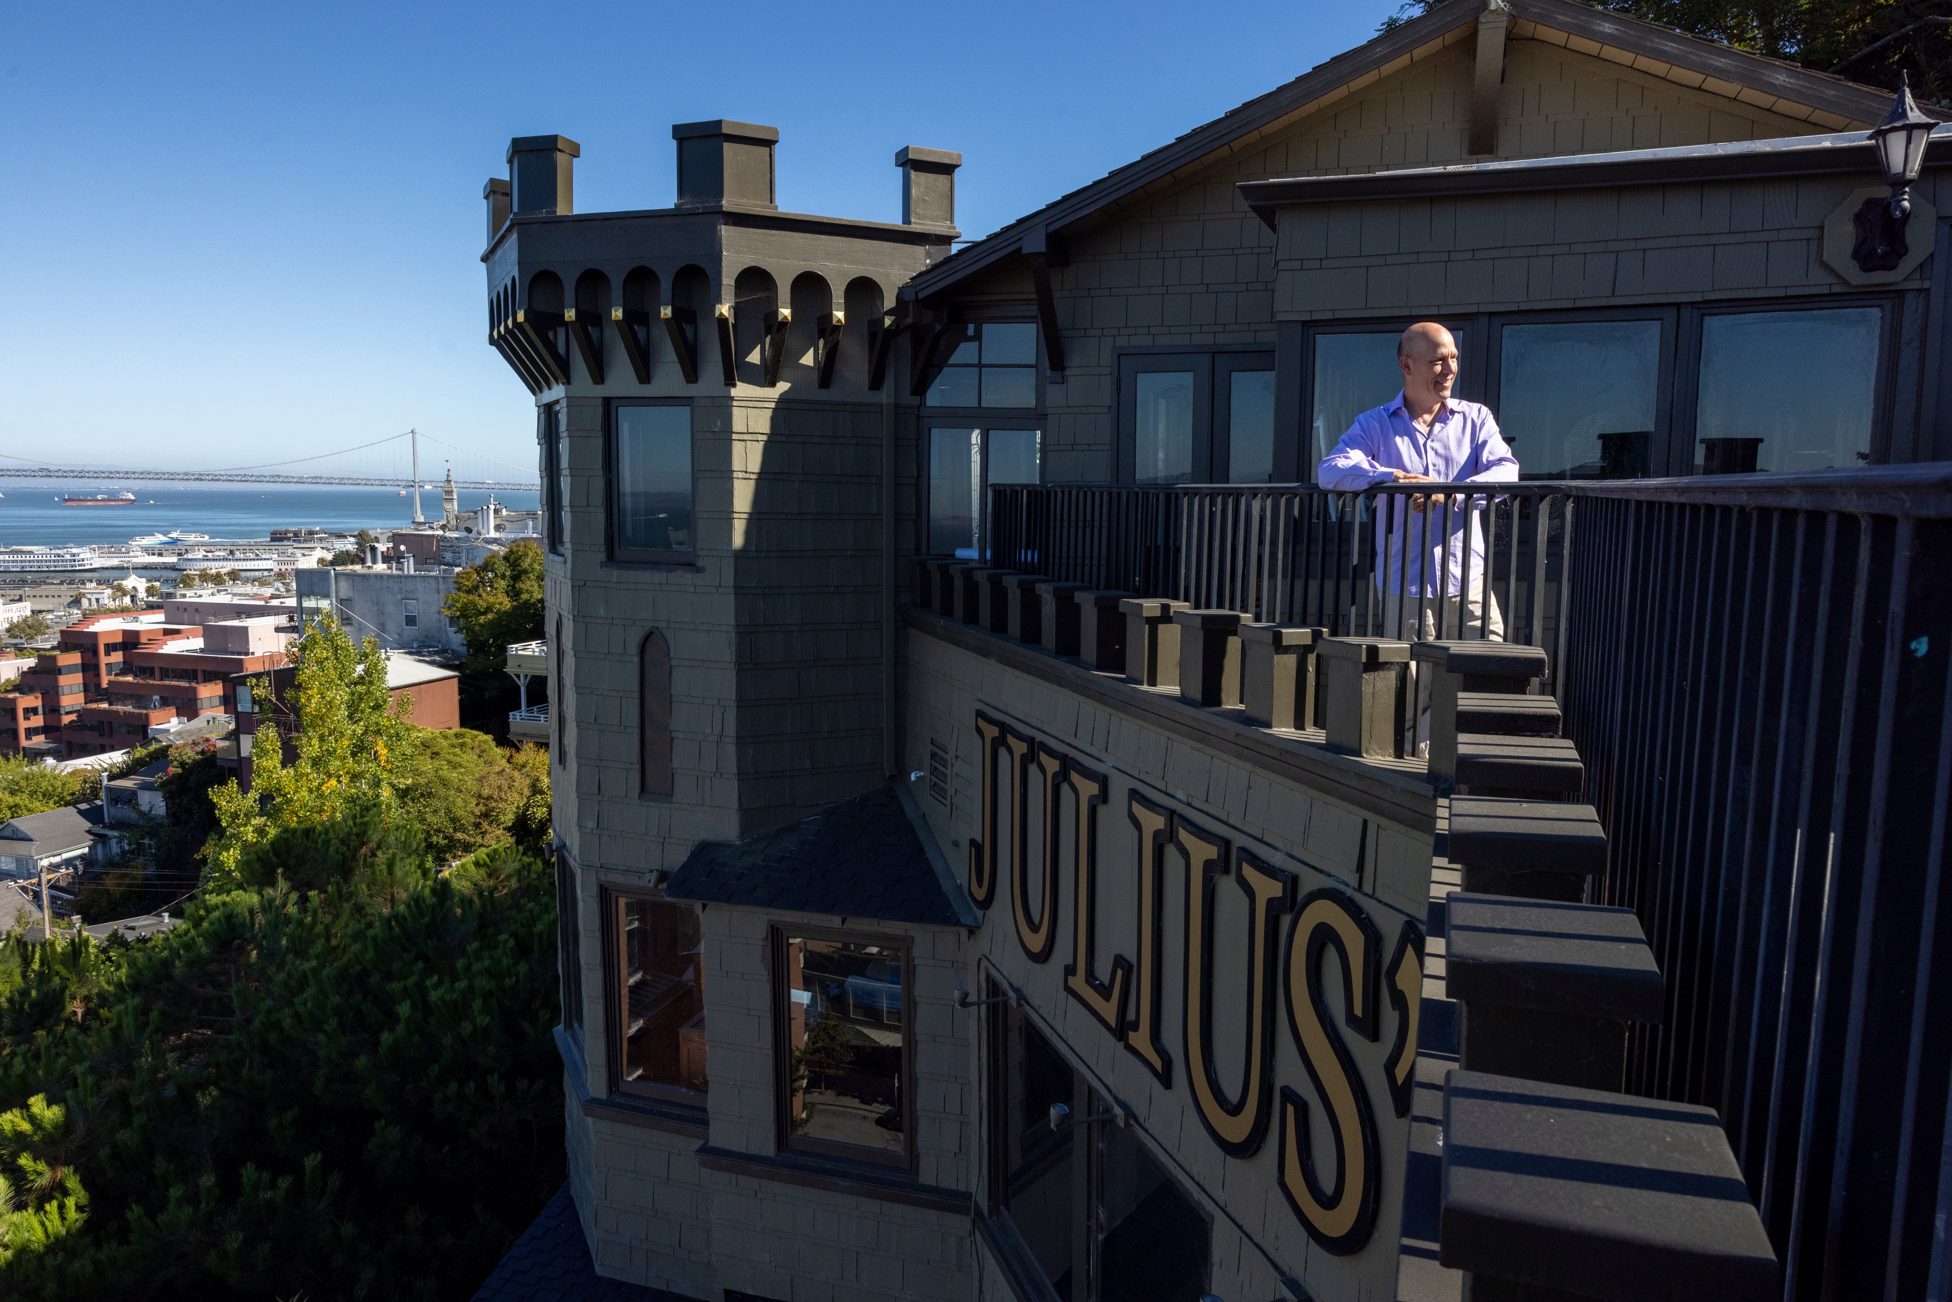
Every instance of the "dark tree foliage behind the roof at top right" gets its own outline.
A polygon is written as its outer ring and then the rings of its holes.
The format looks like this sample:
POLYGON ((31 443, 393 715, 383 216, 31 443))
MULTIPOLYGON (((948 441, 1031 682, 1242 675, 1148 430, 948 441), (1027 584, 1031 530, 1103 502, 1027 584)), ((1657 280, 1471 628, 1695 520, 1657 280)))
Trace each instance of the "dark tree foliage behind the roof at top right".
MULTIPOLYGON (((1443 0, 1407 0, 1382 27, 1429 14, 1443 0)), ((1591 0, 1595 8, 1706 37, 1737 49, 1897 90, 1909 72, 1919 100, 1952 100, 1952 27, 1944 0, 1591 0), (1870 49, 1886 37, 1890 45, 1870 49), (1866 53, 1868 51, 1868 53, 1866 53)))

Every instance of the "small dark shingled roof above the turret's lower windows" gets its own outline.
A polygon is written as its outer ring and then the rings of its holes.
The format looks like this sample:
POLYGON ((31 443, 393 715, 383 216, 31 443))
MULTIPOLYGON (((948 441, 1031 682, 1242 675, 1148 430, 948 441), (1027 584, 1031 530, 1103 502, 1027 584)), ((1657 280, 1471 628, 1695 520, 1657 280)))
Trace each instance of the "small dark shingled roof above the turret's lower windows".
POLYGON ((902 794, 876 787, 744 841, 701 841, 666 882, 671 900, 968 925, 910 818, 902 794))

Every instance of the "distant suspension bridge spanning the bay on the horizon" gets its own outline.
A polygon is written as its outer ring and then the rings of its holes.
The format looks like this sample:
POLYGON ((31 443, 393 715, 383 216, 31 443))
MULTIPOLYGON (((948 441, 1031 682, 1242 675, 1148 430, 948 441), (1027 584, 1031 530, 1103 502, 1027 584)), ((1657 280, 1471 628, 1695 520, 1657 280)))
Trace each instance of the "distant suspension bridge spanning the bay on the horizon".
MULTIPOLYGON (((35 465, 25 457, 0 453, 0 478, 31 480, 92 480, 111 484, 299 484, 308 488, 439 488, 439 476, 422 478, 420 443, 437 443, 463 461, 463 478, 455 476, 455 488, 474 488, 488 492, 537 492, 535 467, 519 467, 509 461, 496 461, 482 453, 457 447, 431 433, 408 429, 385 439, 373 439, 357 447, 342 447, 314 457, 291 457, 287 461, 267 461, 254 467, 224 467, 219 470, 150 470, 141 467, 55 467, 35 465), (328 470, 295 470, 293 467, 338 461, 328 470), (388 463, 390 465, 383 465, 388 463), (406 461, 408 465, 400 465, 406 461), (513 470, 511 476, 492 478, 482 474, 488 468, 513 470)), ((453 468, 453 459, 447 459, 453 468)))

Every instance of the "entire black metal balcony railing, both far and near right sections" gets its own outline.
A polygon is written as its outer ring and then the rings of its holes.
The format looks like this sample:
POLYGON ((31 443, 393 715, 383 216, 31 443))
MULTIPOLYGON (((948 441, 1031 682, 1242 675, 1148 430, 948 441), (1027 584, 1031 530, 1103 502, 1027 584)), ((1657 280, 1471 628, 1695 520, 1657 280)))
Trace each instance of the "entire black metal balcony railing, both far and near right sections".
POLYGON ((1630 1087, 1720 1113, 1786 1298, 1952 1292, 1952 465, 992 494, 997 568, 1333 636, 1484 634, 1487 588, 1667 978, 1630 1087))

